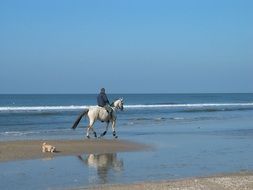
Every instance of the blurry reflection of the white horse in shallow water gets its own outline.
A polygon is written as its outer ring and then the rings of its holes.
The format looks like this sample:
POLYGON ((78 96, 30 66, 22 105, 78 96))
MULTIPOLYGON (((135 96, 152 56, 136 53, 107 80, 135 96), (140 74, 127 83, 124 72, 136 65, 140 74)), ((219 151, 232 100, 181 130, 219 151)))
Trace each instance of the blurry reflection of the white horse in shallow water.
POLYGON ((120 172, 123 170, 123 160, 117 158, 116 153, 107 154, 89 154, 78 156, 89 168, 96 170, 96 173, 90 173, 89 179, 96 181, 98 178, 100 183, 107 183, 109 172, 120 172))

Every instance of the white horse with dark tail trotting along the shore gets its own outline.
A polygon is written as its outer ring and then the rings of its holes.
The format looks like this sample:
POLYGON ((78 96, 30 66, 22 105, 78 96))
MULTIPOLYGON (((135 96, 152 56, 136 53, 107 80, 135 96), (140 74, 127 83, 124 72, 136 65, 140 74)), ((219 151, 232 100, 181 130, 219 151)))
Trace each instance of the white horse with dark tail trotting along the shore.
POLYGON ((75 123, 72 126, 72 129, 75 129, 77 127, 78 123, 81 121, 82 117, 84 115, 87 115, 88 118, 89 118, 89 125, 87 126, 87 132, 86 132, 87 138, 90 138, 90 135, 89 135, 89 131, 90 130, 93 131, 94 137, 97 137, 97 133, 93 129, 93 125, 94 125, 94 123, 97 120, 100 120, 102 122, 106 122, 106 129, 100 135, 100 137, 104 136, 107 133, 109 123, 111 122, 112 123, 113 136, 115 138, 118 138, 118 136, 116 135, 116 131, 115 131, 115 125, 116 125, 116 119, 117 119, 116 110, 119 109, 119 110, 122 111, 124 109, 124 107, 123 107, 123 99, 120 98, 120 99, 114 101, 111 104, 111 107, 112 107, 112 113, 111 114, 109 114, 108 111, 105 108, 99 107, 99 106, 92 106, 92 107, 84 110, 78 116, 78 118, 76 119, 75 123))

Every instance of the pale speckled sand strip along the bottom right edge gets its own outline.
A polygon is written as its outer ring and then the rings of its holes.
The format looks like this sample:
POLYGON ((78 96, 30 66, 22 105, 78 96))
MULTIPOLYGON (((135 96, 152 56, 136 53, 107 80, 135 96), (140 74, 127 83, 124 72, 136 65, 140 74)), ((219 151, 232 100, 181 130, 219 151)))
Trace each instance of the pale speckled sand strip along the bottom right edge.
POLYGON ((128 185, 102 185, 72 190, 252 190, 253 173, 236 173, 173 181, 143 182, 128 185))

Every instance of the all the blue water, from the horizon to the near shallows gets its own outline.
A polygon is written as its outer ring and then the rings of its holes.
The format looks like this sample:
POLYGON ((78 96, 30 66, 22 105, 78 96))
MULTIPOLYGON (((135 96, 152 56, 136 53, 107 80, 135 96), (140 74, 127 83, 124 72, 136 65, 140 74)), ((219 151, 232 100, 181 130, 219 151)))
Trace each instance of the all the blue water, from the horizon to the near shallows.
MULTIPOLYGON (((124 111, 117 112, 119 138, 149 144, 152 150, 92 155, 96 160, 108 158, 103 166, 89 164, 86 154, 1 163, 0 189, 131 183, 253 170, 253 94, 108 95, 111 101, 120 97, 124 111)), ((94 105, 96 94, 0 95, 0 140, 82 139, 87 119, 76 130, 70 128, 83 109, 94 105)), ((104 125, 97 122, 95 130, 103 132, 104 125)), ((111 131, 105 138, 112 138, 111 131)))

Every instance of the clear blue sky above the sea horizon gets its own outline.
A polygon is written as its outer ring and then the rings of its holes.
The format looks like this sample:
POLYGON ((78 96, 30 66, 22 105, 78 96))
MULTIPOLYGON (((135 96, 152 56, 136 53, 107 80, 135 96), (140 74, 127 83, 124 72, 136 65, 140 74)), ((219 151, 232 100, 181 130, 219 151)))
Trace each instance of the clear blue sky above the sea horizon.
POLYGON ((0 1, 0 93, 253 92, 251 0, 0 1))

